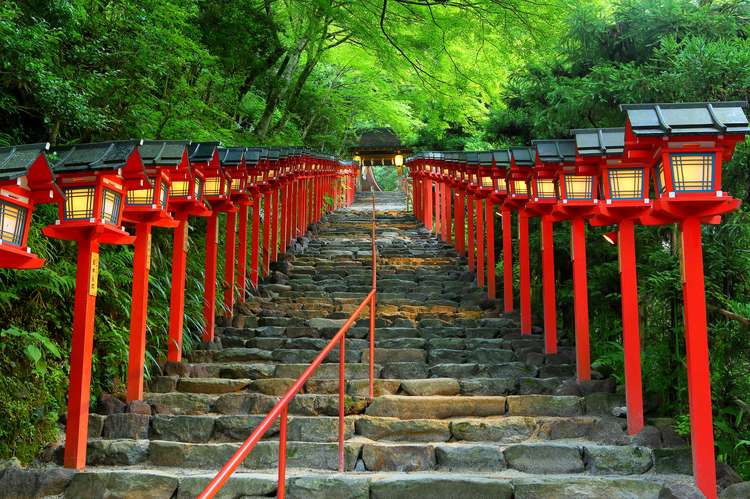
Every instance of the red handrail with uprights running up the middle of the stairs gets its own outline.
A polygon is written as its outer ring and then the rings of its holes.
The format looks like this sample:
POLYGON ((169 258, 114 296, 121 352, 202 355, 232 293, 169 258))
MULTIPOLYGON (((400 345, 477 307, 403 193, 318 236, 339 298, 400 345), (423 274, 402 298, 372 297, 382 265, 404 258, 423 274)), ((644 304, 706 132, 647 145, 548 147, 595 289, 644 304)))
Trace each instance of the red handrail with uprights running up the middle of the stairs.
POLYGON ((338 330, 325 348, 315 357, 302 375, 287 390, 283 397, 273 406, 273 409, 263 418, 253 433, 245 440, 239 449, 229 458, 229 461, 221 468, 216 476, 208 483, 199 499, 213 498, 224 486, 255 446, 263 438, 263 435, 271 428, 276 418, 279 418, 279 470, 276 497, 283 499, 286 487, 286 429, 289 414, 289 404, 300 391, 302 386, 310 379, 315 370, 328 357, 328 354, 336 345, 339 345, 339 471, 345 469, 344 463, 344 435, 345 435, 345 400, 346 400, 346 333, 359 318, 362 311, 369 305, 370 308, 370 348, 369 348, 369 399, 374 398, 374 375, 375 375, 375 306, 377 301, 377 247, 375 244, 375 194, 372 195, 372 288, 367 296, 360 302, 359 306, 352 312, 349 319, 338 330))

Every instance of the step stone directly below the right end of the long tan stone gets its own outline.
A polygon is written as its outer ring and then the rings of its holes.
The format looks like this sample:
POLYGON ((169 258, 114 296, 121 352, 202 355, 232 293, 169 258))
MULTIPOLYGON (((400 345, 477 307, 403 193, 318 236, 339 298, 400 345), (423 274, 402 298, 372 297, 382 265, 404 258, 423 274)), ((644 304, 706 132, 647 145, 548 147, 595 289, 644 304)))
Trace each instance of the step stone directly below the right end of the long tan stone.
POLYGON ((508 416, 452 421, 451 433, 456 440, 514 443, 530 438, 535 427, 533 418, 508 416))

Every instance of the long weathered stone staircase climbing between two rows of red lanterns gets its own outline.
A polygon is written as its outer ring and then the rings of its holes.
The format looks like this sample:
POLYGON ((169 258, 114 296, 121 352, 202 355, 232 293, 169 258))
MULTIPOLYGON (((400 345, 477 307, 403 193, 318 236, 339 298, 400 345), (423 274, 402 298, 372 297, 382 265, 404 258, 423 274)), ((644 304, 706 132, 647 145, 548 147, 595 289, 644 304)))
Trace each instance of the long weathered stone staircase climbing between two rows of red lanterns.
MULTIPOLYGON (((369 291, 369 199, 301 238, 217 345, 151 380, 146 403, 100 400, 85 472, 54 464, 57 449, 49 464, 0 471, 0 496, 195 497, 369 291)), ((702 497, 668 421, 628 436, 613 380, 576 383, 572 347, 543 355, 540 334, 498 315, 413 217, 378 212, 377 246, 376 397, 363 316, 346 345, 347 472, 334 350, 290 406, 288 497, 702 497)), ((218 497, 274 496, 277 439, 278 423, 218 497)))

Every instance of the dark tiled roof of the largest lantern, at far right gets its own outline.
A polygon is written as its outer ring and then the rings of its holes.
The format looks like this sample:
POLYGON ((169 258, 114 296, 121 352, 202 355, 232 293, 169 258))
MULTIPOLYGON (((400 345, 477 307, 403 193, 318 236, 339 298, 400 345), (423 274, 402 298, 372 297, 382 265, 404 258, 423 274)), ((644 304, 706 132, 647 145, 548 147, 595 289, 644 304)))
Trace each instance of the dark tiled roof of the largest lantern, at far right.
POLYGON ((746 102, 624 104, 633 133, 638 135, 746 134, 746 102))

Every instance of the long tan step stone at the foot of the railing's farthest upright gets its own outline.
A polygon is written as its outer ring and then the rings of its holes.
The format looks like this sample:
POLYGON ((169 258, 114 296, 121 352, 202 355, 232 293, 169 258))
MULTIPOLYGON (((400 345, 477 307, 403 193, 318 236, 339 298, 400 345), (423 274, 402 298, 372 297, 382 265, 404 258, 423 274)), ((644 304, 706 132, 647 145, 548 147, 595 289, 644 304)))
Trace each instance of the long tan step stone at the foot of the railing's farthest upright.
POLYGON ((445 419, 462 416, 499 416, 505 413, 505 397, 417 397, 387 395, 367 408, 369 416, 401 419, 445 419))

